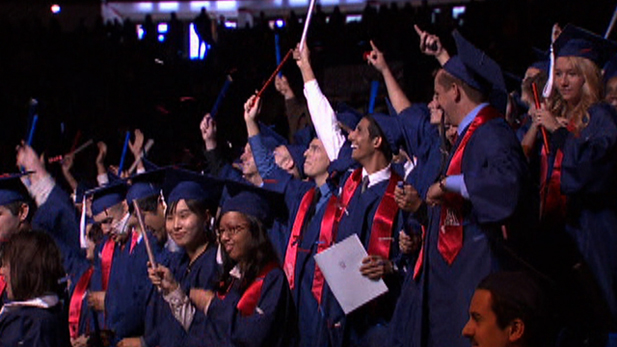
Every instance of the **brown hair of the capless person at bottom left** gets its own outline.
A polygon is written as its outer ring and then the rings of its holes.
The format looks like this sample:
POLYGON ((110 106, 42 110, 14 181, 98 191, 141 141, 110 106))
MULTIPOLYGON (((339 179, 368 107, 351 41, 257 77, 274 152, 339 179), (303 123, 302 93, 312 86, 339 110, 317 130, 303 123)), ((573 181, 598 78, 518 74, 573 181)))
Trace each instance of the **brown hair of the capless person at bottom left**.
POLYGON ((2 262, 8 262, 13 299, 24 301, 47 293, 61 295, 59 280, 65 276, 62 256, 54 240, 42 231, 13 235, 4 247, 2 262))

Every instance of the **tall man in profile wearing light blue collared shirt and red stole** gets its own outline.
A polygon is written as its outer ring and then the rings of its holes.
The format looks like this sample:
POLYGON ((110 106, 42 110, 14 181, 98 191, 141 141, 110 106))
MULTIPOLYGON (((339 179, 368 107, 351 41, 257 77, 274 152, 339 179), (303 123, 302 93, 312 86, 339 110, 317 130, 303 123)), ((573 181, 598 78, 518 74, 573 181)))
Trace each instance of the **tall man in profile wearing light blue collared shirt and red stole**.
POLYGON ((461 330, 476 285, 499 268, 520 265, 504 256, 503 246, 516 252, 534 227, 533 214, 524 209, 533 208, 533 196, 523 152, 489 105, 493 92, 505 93, 501 70, 460 34, 454 37, 458 54, 437 73, 434 100, 458 126, 458 139, 443 178, 427 192, 434 207, 422 268, 408 288, 409 328, 399 332, 408 346, 466 346, 461 330))

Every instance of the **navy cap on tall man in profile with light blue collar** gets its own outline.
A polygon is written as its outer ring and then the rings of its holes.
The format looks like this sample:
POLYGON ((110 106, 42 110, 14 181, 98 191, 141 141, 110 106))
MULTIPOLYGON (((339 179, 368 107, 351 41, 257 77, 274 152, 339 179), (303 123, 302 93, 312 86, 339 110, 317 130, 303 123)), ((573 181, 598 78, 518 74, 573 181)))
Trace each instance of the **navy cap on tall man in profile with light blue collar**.
POLYGON ((488 96, 490 103, 504 112, 507 90, 499 65, 467 41, 458 30, 452 32, 452 37, 456 42, 457 55, 444 64, 444 70, 488 96))

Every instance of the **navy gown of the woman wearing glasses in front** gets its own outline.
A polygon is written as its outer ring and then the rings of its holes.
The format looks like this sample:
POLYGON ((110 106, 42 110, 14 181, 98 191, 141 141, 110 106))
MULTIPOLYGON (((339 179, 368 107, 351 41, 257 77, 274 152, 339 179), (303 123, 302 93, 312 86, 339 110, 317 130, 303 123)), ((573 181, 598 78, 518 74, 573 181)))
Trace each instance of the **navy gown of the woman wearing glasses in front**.
POLYGON ((242 293, 238 281, 224 299, 215 297, 204 323, 193 321, 188 346, 293 347, 297 345, 296 312, 285 273, 270 271, 263 285, 255 312, 243 316, 236 305, 242 293))

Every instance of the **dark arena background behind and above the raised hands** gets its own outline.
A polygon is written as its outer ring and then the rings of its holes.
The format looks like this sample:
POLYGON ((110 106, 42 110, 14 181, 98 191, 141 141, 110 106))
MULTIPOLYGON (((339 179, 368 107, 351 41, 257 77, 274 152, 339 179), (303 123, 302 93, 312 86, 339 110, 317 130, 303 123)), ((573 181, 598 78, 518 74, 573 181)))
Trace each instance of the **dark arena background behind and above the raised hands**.
MULTIPOLYGON (((67 0, 64 4, 89 4, 84 9, 91 9, 100 3, 67 0)), ((267 25, 271 19, 267 14, 250 29, 220 28, 208 57, 189 61, 185 52, 178 51, 181 43, 138 41, 135 23, 123 27, 100 19, 88 21, 84 10, 83 19, 73 13, 72 23, 81 19, 81 24, 66 25, 59 16, 40 14, 45 13, 39 11, 41 7, 50 5, 42 0, 21 1, 0 14, 0 172, 16 170, 15 146, 27 137, 32 97, 39 101, 33 147, 47 156, 68 152, 79 133, 79 143, 90 138, 105 141, 107 163, 117 165, 125 131, 140 128, 146 138, 156 141, 149 156, 156 164, 198 161, 203 144, 199 121, 212 107, 228 73, 234 84, 219 113, 219 140, 229 141, 234 148, 243 146, 242 105, 276 67, 274 31, 267 25)), ((431 74, 437 64, 419 53, 413 24, 440 35, 452 52, 449 33, 458 28, 504 71, 522 75, 535 60, 532 47, 547 49, 553 23, 573 23, 603 35, 616 2, 474 1, 464 4, 462 18, 453 19, 451 9, 456 5, 441 5, 441 13, 435 15, 436 6, 430 1, 420 7, 383 2, 365 9, 361 23, 350 24, 337 16, 326 24, 330 11, 316 14, 308 43, 324 93, 334 101, 366 109, 370 80, 379 79, 362 60, 362 53, 369 50, 368 40, 373 39, 396 66, 410 99, 430 100, 431 74)), ((286 19, 286 27, 277 31, 283 53, 295 46, 302 31, 300 24, 293 24, 293 15, 286 19)), ((283 71, 302 96, 295 63, 289 62, 283 71)), ((511 84, 514 88, 517 82, 511 84)), ((383 98, 379 105, 383 108, 383 98)), ((274 87, 265 94, 262 114, 264 122, 286 134, 283 100, 274 87)), ((91 146, 77 157, 79 179, 94 178, 95 156, 96 146, 91 146)), ((50 165, 57 172, 58 164, 50 165)))

